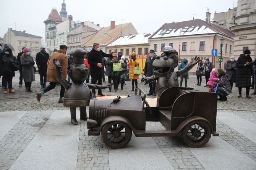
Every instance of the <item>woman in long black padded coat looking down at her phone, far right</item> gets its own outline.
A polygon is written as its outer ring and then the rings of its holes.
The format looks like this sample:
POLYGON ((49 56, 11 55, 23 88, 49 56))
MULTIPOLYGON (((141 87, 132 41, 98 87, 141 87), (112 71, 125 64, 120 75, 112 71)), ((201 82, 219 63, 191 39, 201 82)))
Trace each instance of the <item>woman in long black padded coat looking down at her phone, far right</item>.
POLYGON ((237 59, 237 76, 235 87, 238 87, 238 98, 242 97, 242 87, 246 88, 246 98, 252 98, 249 95, 251 87, 251 68, 253 68, 253 60, 251 59, 250 54, 250 50, 245 50, 237 59))

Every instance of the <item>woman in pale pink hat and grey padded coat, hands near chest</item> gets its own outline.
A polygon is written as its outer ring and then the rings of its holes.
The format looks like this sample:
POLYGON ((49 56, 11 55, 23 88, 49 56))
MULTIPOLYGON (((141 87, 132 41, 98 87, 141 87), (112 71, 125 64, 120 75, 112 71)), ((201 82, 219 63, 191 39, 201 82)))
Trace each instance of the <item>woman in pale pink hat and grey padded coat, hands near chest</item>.
POLYGON ((233 88, 233 83, 235 82, 237 75, 237 61, 235 56, 231 56, 230 60, 227 61, 227 64, 224 66, 226 74, 228 75, 228 81, 230 82, 231 90, 233 88))

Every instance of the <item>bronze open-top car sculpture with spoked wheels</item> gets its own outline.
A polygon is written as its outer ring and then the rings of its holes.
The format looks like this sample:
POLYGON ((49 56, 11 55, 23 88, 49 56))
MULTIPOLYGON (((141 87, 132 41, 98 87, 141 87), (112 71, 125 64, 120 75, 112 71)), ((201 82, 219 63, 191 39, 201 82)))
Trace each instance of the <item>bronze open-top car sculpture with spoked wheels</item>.
POLYGON ((123 148, 136 137, 177 136, 188 146, 204 146, 216 132, 217 94, 193 88, 169 87, 158 98, 158 106, 150 107, 143 90, 135 96, 113 100, 91 100, 88 135, 100 135, 113 149, 123 148), (205 100, 201 100, 201 99, 205 100), (145 106, 146 105, 146 106, 145 106), (181 107, 185 105, 186 107, 181 107), (133 106, 133 107, 127 107, 133 106), (201 106, 207 107, 207 112, 201 106), (160 122, 166 130, 146 130, 146 122, 160 122))

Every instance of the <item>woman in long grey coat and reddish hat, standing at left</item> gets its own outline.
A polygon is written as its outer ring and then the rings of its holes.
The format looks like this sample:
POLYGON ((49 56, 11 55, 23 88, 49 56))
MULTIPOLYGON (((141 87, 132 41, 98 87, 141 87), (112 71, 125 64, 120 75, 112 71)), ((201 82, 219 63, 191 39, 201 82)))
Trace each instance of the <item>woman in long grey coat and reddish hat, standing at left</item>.
POLYGON ((26 92, 31 90, 31 84, 32 82, 36 81, 35 79, 35 73, 34 73, 34 64, 35 61, 33 59, 33 57, 30 55, 29 53, 29 49, 28 48, 24 48, 23 49, 23 54, 21 55, 21 65, 23 66, 23 80, 25 83, 25 88, 26 88, 26 92))

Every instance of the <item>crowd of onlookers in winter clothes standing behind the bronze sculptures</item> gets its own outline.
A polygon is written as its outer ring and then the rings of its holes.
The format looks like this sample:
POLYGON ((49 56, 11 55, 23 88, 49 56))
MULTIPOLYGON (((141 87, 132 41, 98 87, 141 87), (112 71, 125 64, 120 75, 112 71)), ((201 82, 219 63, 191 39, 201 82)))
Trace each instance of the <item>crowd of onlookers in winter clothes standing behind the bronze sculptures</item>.
MULTIPOLYGON (((54 49, 52 55, 45 51, 45 47, 42 46, 39 53, 36 54, 36 59, 30 54, 30 50, 27 47, 22 47, 21 53, 18 53, 17 58, 13 55, 11 48, 7 44, 0 44, 0 79, 2 76, 2 89, 4 94, 15 93, 12 86, 12 79, 15 76, 14 67, 19 68, 19 87, 22 87, 23 82, 25 84, 25 91, 32 92, 31 84, 35 81, 35 63, 38 67, 40 75, 41 92, 37 93, 37 100, 40 101, 42 95, 47 91, 50 91, 56 87, 58 80, 56 79, 55 65, 52 63, 53 58, 57 58, 62 66, 62 72, 67 72, 67 67, 73 64, 73 52, 70 51, 70 56, 66 56, 67 46, 61 45, 60 49, 54 49), (46 86, 46 83, 49 85, 46 86)), ((205 77, 206 85, 209 87, 210 92, 215 92, 219 96, 219 101, 227 101, 227 96, 232 93, 233 83, 238 88, 238 98, 242 97, 242 88, 246 89, 246 98, 251 99, 249 95, 250 87, 254 89, 252 95, 256 95, 256 82, 251 82, 251 77, 256 80, 256 59, 252 61, 250 57, 250 50, 244 50, 237 60, 235 56, 231 56, 224 65, 224 70, 213 68, 213 64, 207 58, 204 62, 199 60, 196 69, 196 78, 198 86, 201 86, 202 76, 205 77)), ((153 75, 153 62, 156 59, 154 50, 149 51, 149 57, 144 64, 143 76, 151 77, 153 75)), ((108 83, 113 83, 113 89, 115 92, 118 90, 119 84, 121 90, 123 90, 125 81, 131 80, 131 91, 138 88, 139 74, 134 73, 134 68, 139 67, 139 58, 136 55, 136 51, 133 51, 126 61, 125 56, 119 51, 116 53, 113 51, 111 54, 106 54, 100 50, 99 43, 94 43, 92 50, 87 51, 84 56, 84 64, 89 68, 89 76, 86 79, 86 83, 89 83, 91 75, 91 84, 101 85, 105 81, 105 75, 108 76, 108 83), (116 68, 117 67, 117 68, 116 68), (135 84, 135 87, 134 87, 135 84)), ((179 64, 178 70, 184 69, 188 64, 186 58, 179 64)), ((188 73, 180 77, 180 87, 182 87, 183 80, 185 80, 185 87, 188 87, 188 73)), ((63 74, 63 78, 67 78, 67 74, 63 74)), ((68 78, 68 82, 70 79, 68 78)), ((112 91, 112 87, 109 88, 109 92, 112 91)), ((60 98, 58 103, 63 103, 63 96, 65 88, 61 85, 60 98)), ((98 89, 99 96, 105 96, 101 89, 98 89)), ((147 95, 156 96, 156 80, 149 83, 149 93, 147 95)), ((96 98, 96 90, 92 89, 92 97, 96 98)))

